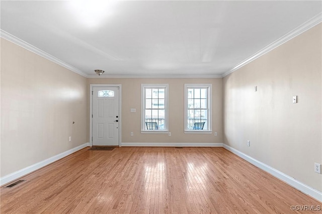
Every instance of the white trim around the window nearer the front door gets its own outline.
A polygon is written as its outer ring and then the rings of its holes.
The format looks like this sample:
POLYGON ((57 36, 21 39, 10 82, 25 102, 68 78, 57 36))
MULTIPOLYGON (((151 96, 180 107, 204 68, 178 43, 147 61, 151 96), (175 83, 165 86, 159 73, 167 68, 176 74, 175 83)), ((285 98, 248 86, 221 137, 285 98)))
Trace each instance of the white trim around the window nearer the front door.
POLYGON ((169 133, 169 84, 141 84, 141 133, 168 134, 169 133), (166 88, 165 91, 165 130, 144 130, 144 88, 166 88))

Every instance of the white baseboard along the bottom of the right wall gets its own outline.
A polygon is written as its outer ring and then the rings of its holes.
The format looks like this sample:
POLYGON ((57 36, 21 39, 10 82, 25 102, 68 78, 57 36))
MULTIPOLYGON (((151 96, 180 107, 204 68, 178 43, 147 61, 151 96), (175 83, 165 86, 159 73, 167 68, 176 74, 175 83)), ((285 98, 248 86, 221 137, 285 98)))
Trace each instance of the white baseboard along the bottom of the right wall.
POLYGON ((257 166, 260 169, 263 169, 264 171, 270 173, 271 175, 283 180, 284 182, 288 183, 289 185, 293 186, 294 188, 300 190, 301 192, 310 195, 311 197, 314 197, 315 199, 322 201, 322 192, 313 189, 312 187, 309 187, 308 185, 295 180, 293 177, 288 176, 287 174, 284 174, 281 171, 278 171, 277 169, 266 165, 265 163, 262 163, 261 161, 256 160, 255 158, 244 154, 243 152, 238 151, 237 149, 234 149, 226 144, 223 144, 223 147, 227 149, 228 151, 231 151, 235 155, 243 158, 244 160, 250 162, 251 164, 257 166))

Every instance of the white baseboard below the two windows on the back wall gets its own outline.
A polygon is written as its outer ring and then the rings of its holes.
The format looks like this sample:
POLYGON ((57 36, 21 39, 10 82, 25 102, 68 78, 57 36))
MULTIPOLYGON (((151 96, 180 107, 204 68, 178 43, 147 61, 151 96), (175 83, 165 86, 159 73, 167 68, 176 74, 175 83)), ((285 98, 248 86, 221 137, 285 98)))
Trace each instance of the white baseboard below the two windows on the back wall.
POLYGON ((222 143, 122 143, 122 146, 144 147, 222 147, 222 143))

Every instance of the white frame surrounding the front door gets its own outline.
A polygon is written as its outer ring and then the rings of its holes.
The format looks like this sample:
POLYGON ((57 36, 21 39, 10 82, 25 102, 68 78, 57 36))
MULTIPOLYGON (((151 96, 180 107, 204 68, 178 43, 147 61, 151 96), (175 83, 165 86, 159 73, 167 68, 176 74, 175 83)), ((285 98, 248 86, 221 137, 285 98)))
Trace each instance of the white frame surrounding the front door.
POLYGON ((93 87, 119 87, 119 146, 122 145, 122 85, 121 84, 90 84, 90 146, 93 146, 93 87))

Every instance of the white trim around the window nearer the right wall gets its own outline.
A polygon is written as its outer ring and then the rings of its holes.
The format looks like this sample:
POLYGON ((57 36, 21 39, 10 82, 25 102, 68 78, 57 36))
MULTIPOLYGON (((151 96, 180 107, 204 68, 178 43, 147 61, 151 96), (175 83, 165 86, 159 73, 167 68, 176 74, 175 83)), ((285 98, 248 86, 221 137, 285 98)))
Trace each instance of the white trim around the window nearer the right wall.
POLYGON ((185 84, 185 130, 186 134, 211 134, 212 133, 212 84, 185 84), (208 88, 208 127, 209 130, 188 130, 188 88, 208 88))

